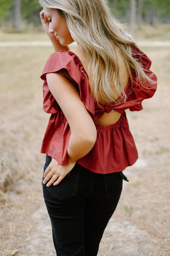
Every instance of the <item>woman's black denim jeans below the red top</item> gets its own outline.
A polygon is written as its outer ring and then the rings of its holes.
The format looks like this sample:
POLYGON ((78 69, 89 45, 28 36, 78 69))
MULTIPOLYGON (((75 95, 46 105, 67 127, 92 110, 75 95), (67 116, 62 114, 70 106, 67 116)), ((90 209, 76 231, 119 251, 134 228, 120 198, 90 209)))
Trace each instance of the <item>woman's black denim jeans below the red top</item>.
MULTIPOLYGON (((51 158, 46 157, 44 170, 51 158)), ((122 173, 97 174, 75 164, 43 192, 57 256, 96 256, 122 191, 122 173)))

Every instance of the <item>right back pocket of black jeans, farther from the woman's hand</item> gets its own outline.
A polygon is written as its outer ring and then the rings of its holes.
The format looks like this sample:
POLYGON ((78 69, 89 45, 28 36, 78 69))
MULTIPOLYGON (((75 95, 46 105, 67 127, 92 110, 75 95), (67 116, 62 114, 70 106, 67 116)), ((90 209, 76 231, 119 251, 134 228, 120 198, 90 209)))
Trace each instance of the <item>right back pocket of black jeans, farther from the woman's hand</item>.
POLYGON ((105 191, 108 199, 117 199, 122 192, 122 177, 119 173, 108 173, 104 175, 105 191))

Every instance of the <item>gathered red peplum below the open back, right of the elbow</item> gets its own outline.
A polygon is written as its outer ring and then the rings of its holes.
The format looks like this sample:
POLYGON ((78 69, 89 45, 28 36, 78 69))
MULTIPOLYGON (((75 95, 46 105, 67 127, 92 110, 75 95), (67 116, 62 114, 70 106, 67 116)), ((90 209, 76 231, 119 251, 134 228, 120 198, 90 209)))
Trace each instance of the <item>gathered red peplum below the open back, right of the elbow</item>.
POLYGON ((97 140, 94 148, 77 161, 86 169, 107 174, 122 172, 138 159, 138 151, 129 130, 126 114, 113 125, 96 124, 97 140))

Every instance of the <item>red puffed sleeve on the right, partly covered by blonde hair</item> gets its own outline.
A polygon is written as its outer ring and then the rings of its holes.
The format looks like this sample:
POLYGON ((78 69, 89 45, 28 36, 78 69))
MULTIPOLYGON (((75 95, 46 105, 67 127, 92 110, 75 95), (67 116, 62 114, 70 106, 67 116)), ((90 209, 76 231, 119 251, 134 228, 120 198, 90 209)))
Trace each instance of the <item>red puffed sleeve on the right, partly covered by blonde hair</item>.
MULTIPOLYGON (((133 87, 132 87, 131 93, 128 95, 127 101, 138 100, 138 99, 141 99, 142 101, 144 99, 149 99, 154 95, 157 89, 157 77, 150 70, 151 60, 137 46, 132 47, 132 56, 143 68, 143 70, 145 71, 145 74, 152 81, 154 81, 154 83, 150 83, 147 81, 145 85, 141 85, 137 77, 137 74, 135 74, 135 71, 132 70, 133 87)), ((137 106, 132 106, 129 109, 131 111, 138 111, 143 109, 143 107, 142 107, 142 104, 140 103, 140 105, 138 104, 137 106)))

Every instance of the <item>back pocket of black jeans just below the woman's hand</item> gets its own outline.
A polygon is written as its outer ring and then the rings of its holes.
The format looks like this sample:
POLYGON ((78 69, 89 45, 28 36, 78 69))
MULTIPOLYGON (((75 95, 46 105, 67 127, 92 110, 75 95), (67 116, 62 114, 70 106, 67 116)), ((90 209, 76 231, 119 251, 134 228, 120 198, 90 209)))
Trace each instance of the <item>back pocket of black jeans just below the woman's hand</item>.
POLYGON ((64 179, 56 186, 47 187, 43 184, 44 197, 47 197, 46 190, 56 199, 64 200, 75 197, 79 187, 80 170, 77 165, 64 177, 64 179))

